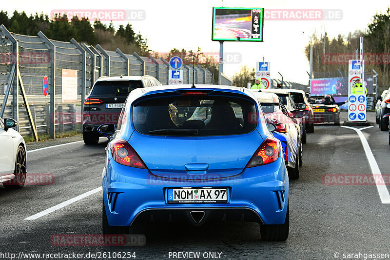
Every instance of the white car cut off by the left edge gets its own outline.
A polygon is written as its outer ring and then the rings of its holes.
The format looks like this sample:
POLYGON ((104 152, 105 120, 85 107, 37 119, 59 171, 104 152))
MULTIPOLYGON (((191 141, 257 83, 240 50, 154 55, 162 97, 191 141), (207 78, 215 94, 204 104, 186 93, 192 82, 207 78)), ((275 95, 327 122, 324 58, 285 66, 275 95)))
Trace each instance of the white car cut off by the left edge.
POLYGON ((26 181, 26 143, 18 131, 18 122, 0 118, 0 182, 5 188, 21 188, 26 181))

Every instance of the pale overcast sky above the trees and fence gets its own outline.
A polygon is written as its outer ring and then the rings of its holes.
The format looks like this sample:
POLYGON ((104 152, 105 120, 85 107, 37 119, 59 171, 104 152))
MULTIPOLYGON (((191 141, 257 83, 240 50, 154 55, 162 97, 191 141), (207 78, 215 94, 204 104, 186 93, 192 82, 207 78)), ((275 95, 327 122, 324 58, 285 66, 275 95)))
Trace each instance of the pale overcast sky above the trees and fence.
POLYGON ((389 4, 389 0, 14 0, 2 1, 0 9, 11 14, 15 9, 27 14, 41 11, 49 14, 54 9, 143 10, 144 20, 130 22, 135 31, 148 38, 152 50, 169 52, 174 47, 196 50, 199 46, 203 52, 215 53, 219 52, 219 42, 211 40, 212 7, 339 10, 337 14, 341 12, 342 18, 336 20, 265 20, 264 42, 224 43, 225 53, 239 53, 242 58, 240 63, 224 65, 224 73, 228 76, 233 76, 242 65, 254 67, 256 61, 262 61, 264 57, 265 61, 271 62, 272 78, 280 79, 280 72, 284 80, 307 83, 309 62, 304 55, 304 46, 314 31, 326 30, 333 37, 365 30, 372 16, 385 12, 389 4))

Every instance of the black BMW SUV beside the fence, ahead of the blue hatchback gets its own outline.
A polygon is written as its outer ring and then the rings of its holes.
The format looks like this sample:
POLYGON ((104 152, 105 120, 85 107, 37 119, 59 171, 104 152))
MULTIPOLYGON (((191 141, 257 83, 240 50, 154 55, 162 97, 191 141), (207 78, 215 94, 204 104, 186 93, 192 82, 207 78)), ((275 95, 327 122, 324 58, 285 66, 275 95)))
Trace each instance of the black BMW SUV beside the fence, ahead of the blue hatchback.
POLYGON ((84 101, 82 137, 85 144, 97 144, 101 124, 117 125, 120 111, 129 93, 136 88, 160 86, 152 76, 101 77, 84 101))

